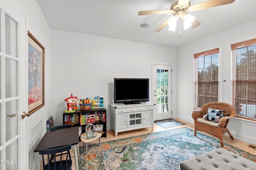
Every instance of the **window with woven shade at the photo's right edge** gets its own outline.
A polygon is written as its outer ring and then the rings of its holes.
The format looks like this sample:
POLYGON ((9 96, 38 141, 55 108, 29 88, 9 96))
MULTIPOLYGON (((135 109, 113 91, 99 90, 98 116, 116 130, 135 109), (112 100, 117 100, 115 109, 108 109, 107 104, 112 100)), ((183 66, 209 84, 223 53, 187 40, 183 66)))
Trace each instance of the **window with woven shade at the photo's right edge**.
POLYGON ((256 121, 256 39, 231 45, 236 117, 256 121))

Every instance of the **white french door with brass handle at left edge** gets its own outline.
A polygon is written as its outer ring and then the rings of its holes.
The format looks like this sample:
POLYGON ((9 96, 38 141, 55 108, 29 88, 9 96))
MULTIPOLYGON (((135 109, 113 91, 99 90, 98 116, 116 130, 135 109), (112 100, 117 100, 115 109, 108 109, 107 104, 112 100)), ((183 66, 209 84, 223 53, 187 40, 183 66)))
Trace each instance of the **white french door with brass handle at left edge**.
POLYGON ((0 8, 0 170, 28 169, 25 19, 0 8))

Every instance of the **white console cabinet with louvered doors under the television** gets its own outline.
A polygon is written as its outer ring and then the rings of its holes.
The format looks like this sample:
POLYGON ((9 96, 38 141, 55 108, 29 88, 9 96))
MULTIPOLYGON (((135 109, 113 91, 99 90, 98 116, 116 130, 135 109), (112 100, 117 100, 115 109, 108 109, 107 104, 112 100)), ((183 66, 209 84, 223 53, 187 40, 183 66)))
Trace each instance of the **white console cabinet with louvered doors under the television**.
POLYGON ((118 132, 139 128, 154 128, 154 104, 112 104, 111 128, 118 132))

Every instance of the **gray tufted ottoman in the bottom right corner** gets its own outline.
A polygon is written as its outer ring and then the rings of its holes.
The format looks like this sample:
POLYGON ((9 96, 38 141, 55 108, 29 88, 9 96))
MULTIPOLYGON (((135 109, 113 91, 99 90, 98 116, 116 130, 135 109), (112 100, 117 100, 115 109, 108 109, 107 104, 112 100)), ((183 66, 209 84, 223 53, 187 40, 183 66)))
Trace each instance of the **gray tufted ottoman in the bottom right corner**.
POLYGON ((180 170, 256 170, 256 163, 219 148, 183 161, 180 170))

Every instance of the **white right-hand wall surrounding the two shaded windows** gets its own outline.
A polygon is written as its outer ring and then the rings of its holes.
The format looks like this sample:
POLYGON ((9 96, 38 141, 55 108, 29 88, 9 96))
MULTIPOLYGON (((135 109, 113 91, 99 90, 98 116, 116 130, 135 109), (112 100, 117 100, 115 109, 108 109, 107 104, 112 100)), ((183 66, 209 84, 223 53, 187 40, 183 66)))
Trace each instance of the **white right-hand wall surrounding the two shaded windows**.
MULTIPOLYGON (((256 38, 255 27, 256 20, 252 20, 178 48, 178 118, 194 123, 190 111, 194 108, 193 54, 196 52, 220 48, 220 102, 232 104, 230 44, 256 38)), ((235 118, 228 124, 228 129, 234 138, 256 143, 255 122, 235 118)))

